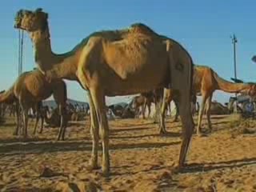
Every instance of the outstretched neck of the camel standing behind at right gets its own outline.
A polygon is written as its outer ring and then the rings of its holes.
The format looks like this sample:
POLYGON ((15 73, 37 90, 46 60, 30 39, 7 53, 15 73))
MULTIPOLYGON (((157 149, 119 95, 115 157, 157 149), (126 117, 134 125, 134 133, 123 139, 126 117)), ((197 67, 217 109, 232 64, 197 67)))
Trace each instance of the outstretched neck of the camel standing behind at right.
POLYGON ((218 74, 214 72, 214 70, 211 70, 211 72, 214 76, 214 80, 217 82, 218 90, 223 90, 227 93, 237 93, 242 90, 242 87, 244 86, 243 83, 226 81, 224 78, 219 77, 218 74))

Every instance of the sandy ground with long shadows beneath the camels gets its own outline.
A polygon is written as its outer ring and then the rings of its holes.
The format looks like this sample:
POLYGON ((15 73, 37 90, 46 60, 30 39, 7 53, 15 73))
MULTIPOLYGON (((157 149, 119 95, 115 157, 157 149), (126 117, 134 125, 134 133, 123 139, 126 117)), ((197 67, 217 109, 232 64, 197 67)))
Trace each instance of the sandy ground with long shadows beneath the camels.
POLYGON ((29 139, 14 137, 13 119, 7 119, 0 126, 0 189, 256 191, 256 134, 242 130, 254 129, 255 122, 214 116, 213 133, 193 136, 188 167, 176 173, 173 165, 178 161, 181 126, 171 118, 166 121, 170 134, 165 137, 158 135, 151 119, 111 121, 111 175, 102 178, 100 170, 86 169, 91 150, 88 119, 73 122, 64 142, 55 142, 56 128, 33 136, 32 124, 29 139))

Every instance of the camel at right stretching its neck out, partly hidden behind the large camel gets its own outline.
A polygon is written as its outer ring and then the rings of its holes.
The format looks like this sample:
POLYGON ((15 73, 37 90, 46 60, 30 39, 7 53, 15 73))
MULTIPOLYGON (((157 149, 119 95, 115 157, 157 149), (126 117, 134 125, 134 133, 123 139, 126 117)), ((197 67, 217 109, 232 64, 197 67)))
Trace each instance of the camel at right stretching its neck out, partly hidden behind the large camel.
MULTIPOLYGON (((198 114, 198 126, 197 134, 201 133, 202 114, 206 110, 206 117, 208 122, 208 129, 211 131, 212 126, 210 122, 210 106, 211 99, 215 90, 223 90, 227 93, 243 93, 254 96, 256 94, 256 85, 252 83, 234 83, 228 82, 223 78, 220 78, 214 70, 207 66, 194 66, 194 78, 193 78, 193 94, 202 95, 202 103, 198 114)), ((165 89, 164 91, 164 104, 162 105, 162 113, 166 110, 166 103, 170 102, 177 93, 174 90, 165 89)), ((193 97, 192 97, 193 98, 193 97)), ((196 101, 196 100, 195 100, 196 101)), ((164 125, 160 125, 160 129, 163 133, 166 133, 164 125)))

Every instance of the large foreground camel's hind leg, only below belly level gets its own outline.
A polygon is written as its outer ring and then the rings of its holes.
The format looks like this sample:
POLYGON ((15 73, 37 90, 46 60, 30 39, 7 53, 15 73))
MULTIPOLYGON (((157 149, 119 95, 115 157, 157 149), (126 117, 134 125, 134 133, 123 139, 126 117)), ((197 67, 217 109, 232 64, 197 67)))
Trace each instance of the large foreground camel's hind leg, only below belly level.
POLYGON ((183 93, 181 92, 178 105, 182 121, 182 147, 179 154, 178 166, 182 167, 186 161, 186 154, 194 130, 194 121, 190 106, 190 93, 187 93, 186 90, 183 91, 183 93))

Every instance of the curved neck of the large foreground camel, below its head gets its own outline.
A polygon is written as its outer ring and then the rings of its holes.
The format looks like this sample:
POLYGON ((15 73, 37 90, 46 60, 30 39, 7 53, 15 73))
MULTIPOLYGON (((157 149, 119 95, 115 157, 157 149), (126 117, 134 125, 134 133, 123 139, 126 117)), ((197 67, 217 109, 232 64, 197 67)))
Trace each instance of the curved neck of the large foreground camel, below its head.
POLYGON ((42 73, 46 74, 46 78, 77 80, 78 52, 54 54, 49 30, 31 32, 30 38, 34 44, 34 61, 42 73))

